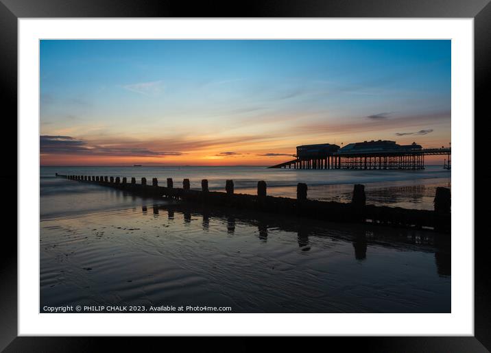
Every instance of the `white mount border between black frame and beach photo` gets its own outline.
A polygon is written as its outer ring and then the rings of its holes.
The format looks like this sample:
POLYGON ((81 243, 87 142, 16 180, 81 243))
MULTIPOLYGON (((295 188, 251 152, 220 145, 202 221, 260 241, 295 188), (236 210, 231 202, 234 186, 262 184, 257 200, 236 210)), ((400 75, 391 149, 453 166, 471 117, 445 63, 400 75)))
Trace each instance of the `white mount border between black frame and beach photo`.
POLYGON ((19 335, 474 334, 472 19, 19 19, 19 335), (385 38, 452 40, 451 314, 40 314, 38 40, 385 38), (458 221, 456 221, 458 220, 458 221))

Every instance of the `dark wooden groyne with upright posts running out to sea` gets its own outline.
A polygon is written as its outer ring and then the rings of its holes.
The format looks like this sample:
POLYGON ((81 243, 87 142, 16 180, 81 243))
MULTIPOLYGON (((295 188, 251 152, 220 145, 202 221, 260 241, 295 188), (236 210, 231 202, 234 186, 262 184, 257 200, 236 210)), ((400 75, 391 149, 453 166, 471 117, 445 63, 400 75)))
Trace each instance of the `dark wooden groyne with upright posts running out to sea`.
POLYGON ((119 190, 143 197, 169 198, 193 202, 205 206, 233 207, 243 210, 272 212, 281 215, 294 215, 347 223, 376 223, 387 226, 405 228, 428 228, 438 232, 451 231, 451 194, 450 189, 439 187, 435 194, 435 210, 411 210, 400 207, 374 206, 366 204, 365 186, 355 184, 352 202, 324 202, 307 199, 307 184, 298 183, 297 198, 267 196, 267 185, 263 180, 257 184, 257 195, 234 193, 232 180, 226 181, 226 192, 209 191, 208 180, 202 180, 202 190, 191 190, 189 179, 184 179, 182 188, 173 187, 173 180, 167 178, 167 186, 158 186, 157 178, 147 184, 146 178, 141 178, 136 184, 136 178, 96 176, 96 175, 60 175, 80 182, 88 182, 101 186, 110 186, 119 190))

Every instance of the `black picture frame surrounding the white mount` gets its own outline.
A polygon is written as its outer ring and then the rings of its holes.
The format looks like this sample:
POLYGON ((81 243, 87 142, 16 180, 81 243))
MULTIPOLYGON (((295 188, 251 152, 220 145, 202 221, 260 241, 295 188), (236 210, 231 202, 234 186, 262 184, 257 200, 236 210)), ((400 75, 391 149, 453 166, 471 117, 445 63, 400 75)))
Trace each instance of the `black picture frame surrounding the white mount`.
MULTIPOLYGON (((484 119, 491 97, 491 4, 490 0, 276 0, 236 2, 202 2, 198 4, 186 1, 165 0, 0 0, 0 99, 5 121, 10 121, 15 139, 17 114, 17 20, 29 17, 419 17, 419 18, 473 18, 475 26, 475 117, 484 119), (10 112, 10 116, 6 112, 10 112), (10 119, 10 120, 9 120, 10 119)), ((472 117, 470 117, 472 119, 472 117)), ((477 123, 478 119, 474 120, 477 123)), ((476 130, 478 131, 478 130, 476 130)), ((478 141, 477 138, 475 141, 478 141)), ((486 143, 486 139, 483 141, 486 143)), ((16 141, 2 139, 5 163, 0 178, 3 196, 12 196, 16 200, 18 185, 16 168, 17 155, 12 146, 16 141), (16 188, 13 184, 16 184, 16 188)), ((481 148, 483 148, 481 146, 481 148)), ((482 160, 484 151, 475 146, 475 161, 482 160)), ((484 186, 490 175, 489 164, 479 177, 475 174, 475 185, 480 187, 477 199, 486 201, 491 197, 484 186), (481 192, 482 191, 482 192, 481 192)), ((481 167, 482 168, 482 167, 481 167)), ((5 203, 8 202, 5 198, 5 203)), ((15 201, 15 205, 17 201, 15 201)), ((469 205, 474 207, 474 205, 469 205)), ((3 212, 7 221, 12 222, 14 206, 8 204, 3 212)), ((475 208, 475 210, 478 210, 475 208)), ((481 212, 486 212, 486 208, 481 212)), ((475 217, 476 225, 477 217, 475 217)), ((476 228, 478 229, 478 228, 476 228)), ((330 337, 328 345, 342 344, 343 349, 363 349, 376 352, 488 352, 491 350, 491 268, 488 256, 488 231, 475 232, 475 336, 474 337, 330 337)), ((455 234, 453 242, 458 243, 459 236, 474 234, 455 234)), ((121 345, 125 350, 141 348, 141 339, 125 338, 89 338, 89 337, 17 337, 17 241, 13 232, 3 234, 0 246, 0 350, 5 352, 91 352, 99 350, 101 343, 109 343, 111 350, 121 345)), ((155 339, 152 339, 155 340, 155 339)), ((173 341, 174 339, 168 339, 173 341)), ((200 345, 221 350, 229 347, 245 351, 263 345, 263 339, 239 338, 230 342, 230 338, 187 339, 179 341, 182 348, 200 345)), ((281 339, 282 344, 291 348, 305 348, 304 343, 293 342, 289 338, 281 339)), ((173 342, 171 342, 173 343, 173 342)), ((167 343, 168 344, 168 343, 167 343)), ((309 341, 313 348, 317 339, 309 341)), ((320 343, 326 346, 326 342, 320 343)))

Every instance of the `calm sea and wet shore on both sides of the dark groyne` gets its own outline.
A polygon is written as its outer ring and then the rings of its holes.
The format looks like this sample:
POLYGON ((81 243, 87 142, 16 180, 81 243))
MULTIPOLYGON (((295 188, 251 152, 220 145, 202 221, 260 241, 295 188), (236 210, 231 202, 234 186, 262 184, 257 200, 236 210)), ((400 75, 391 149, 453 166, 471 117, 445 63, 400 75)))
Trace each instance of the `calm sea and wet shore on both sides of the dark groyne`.
POLYGON ((207 178, 215 189, 230 178, 236 189, 251 193, 257 180, 266 180, 270 195, 288 195, 296 182, 307 182, 309 197, 339 201, 349 199, 352 183, 363 182, 370 202, 414 208, 431 204, 435 185, 450 183, 450 173, 440 168, 409 174, 385 171, 386 176, 378 171, 250 167, 42 168, 41 308, 190 305, 230 306, 235 313, 451 311, 448 236, 191 209, 53 178, 56 172, 156 177, 161 184, 171 177, 175 185, 190 178, 195 188, 207 178))

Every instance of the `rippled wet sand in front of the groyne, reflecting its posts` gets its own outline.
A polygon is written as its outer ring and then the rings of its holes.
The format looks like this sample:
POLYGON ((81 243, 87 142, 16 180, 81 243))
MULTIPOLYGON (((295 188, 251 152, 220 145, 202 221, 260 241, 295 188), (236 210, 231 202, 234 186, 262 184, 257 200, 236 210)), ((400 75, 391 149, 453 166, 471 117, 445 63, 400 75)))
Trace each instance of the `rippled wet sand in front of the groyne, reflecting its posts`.
POLYGON ((41 304, 450 311, 450 245, 439 234, 149 205, 43 221, 41 304))

